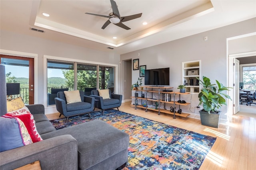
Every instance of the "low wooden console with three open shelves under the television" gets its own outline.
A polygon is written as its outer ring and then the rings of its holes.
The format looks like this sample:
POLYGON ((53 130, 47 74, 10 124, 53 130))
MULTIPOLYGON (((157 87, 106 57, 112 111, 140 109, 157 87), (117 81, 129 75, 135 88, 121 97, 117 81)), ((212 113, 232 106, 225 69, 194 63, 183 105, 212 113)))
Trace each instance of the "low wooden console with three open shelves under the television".
MULTIPOLYGON (((175 108, 175 105, 178 105, 179 106, 179 110, 181 110, 180 109, 180 106, 187 106, 187 105, 189 105, 190 103, 178 103, 178 102, 176 102, 176 101, 167 101, 167 100, 160 100, 160 98, 162 98, 162 97, 160 97, 160 94, 170 94, 170 95, 174 95, 174 99, 175 99, 175 95, 186 95, 186 94, 190 94, 190 93, 188 93, 188 92, 186 92, 186 93, 180 93, 180 92, 168 92, 168 91, 172 91, 172 90, 166 90, 166 89, 172 89, 173 87, 152 87, 152 86, 144 86, 143 87, 143 89, 144 90, 135 90, 135 93, 137 93, 137 92, 145 92, 145 94, 146 94, 146 97, 145 98, 141 98, 141 97, 137 97, 137 96, 132 96, 131 98, 135 98, 135 102, 134 102, 134 105, 131 105, 131 106, 134 106, 135 107, 135 109, 137 109, 137 107, 139 107, 139 108, 142 108, 142 109, 146 109, 146 112, 148 111, 148 110, 152 110, 152 111, 158 111, 158 115, 160 115, 160 113, 167 113, 167 114, 171 114, 171 115, 174 115, 174 119, 175 119, 175 116, 177 115, 177 116, 181 116, 181 117, 188 117, 190 114, 189 113, 182 113, 182 112, 180 112, 180 113, 175 113, 175 112, 171 112, 170 111, 170 109, 165 109, 165 104, 173 104, 173 106, 174 106, 174 108, 175 108), (156 89, 156 90, 154 90, 154 89, 156 89), (166 91, 162 91, 162 90, 166 90, 166 91), (151 97, 148 97, 149 95, 148 95, 148 93, 151 93, 152 95, 151 95, 151 97), (158 97, 157 97, 157 99, 152 99, 152 96, 153 96, 153 94, 158 94, 158 97), (138 100, 141 100, 141 104, 138 104, 138 100), (158 108, 157 109, 154 109, 154 108, 150 108, 150 107, 145 107, 145 106, 143 106, 142 105, 142 102, 143 102, 143 100, 146 102, 145 104, 146 104, 146 106, 149 106, 148 105, 148 103, 149 102, 158 102, 158 105, 160 104, 160 103, 164 103, 164 109, 163 108, 160 108, 159 106, 158 106, 158 108)), ((153 105, 153 107, 154 107, 154 105, 153 105)))

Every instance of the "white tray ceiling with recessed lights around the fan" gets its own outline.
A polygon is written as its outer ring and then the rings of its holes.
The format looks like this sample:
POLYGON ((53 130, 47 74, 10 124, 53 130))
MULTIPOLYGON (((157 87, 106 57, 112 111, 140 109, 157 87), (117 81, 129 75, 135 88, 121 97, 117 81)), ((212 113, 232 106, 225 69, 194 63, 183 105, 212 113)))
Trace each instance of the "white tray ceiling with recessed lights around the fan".
POLYGON ((130 30, 112 23, 101 29, 107 18, 84 14, 108 15, 110 0, 0 0, 0 28, 124 54, 256 17, 256 0, 115 1, 121 16, 142 13, 124 22, 130 30))

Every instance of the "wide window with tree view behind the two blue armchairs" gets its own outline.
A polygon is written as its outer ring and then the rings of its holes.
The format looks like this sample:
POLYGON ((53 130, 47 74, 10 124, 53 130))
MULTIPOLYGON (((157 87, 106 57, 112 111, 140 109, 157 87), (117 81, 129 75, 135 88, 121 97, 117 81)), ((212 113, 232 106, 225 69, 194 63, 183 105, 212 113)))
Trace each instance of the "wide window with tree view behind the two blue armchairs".
POLYGON ((114 93, 114 75, 115 70, 111 66, 48 59, 47 106, 55 104, 56 90, 63 91, 68 88, 69 91, 81 90, 85 95, 90 95, 91 90, 99 88, 110 89, 111 93, 114 93))

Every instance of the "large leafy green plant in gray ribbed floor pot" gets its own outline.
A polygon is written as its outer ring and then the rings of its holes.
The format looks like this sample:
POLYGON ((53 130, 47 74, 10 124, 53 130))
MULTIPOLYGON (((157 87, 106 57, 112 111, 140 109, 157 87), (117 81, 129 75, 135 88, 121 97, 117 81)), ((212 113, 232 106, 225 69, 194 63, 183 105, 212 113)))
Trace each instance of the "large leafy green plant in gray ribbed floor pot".
POLYGON ((223 92, 230 87, 225 87, 216 80, 216 84, 211 84, 210 79, 203 76, 203 80, 197 78, 202 85, 201 92, 198 94, 199 105, 203 104, 203 109, 199 111, 202 125, 218 128, 220 123, 220 113, 218 109, 226 105, 225 98, 231 100, 230 96, 223 92))

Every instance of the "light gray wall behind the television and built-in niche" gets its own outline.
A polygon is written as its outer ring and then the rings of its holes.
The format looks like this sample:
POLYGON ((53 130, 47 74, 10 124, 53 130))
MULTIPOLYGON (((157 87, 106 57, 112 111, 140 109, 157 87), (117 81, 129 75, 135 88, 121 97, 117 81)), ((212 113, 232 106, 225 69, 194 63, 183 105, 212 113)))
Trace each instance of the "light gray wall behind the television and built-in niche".
MULTIPOLYGON (((210 78, 212 83, 218 80, 224 86, 227 86, 228 63, 226 39, 255 31, 256 18, 253 18, 168 43, 126 53, 121 55, 120 58, 121 61, 138 58, 139 64, 146 65, 147 69, 170 67, 170 86, 174 87, 174 91, 177 90, 179 84, 183 83, 182 62, 201 60, 202 76, 210 78), (204 41, 205 36, 208 37, 208 41, 204 41)), ((230 49, 230 51, 234 50, 230 49)), ((132 83, 136 82, 138 76, 139 70, 132 70, 132 83)), ((190 98, 191 96, 184 97, 188 102, 190 98)), ((196 107, 198 103, 198 96, 192 95, 191 106, 196 107)), ((196 109, 193 113, 194 109, 190 106, 182 106, 182 111, 191 113, 191 117, 198 117, 199 115, 198 110, 196 109)), ((224 120, 227 120, 226 112, 227 107, 222 107, 223 114, 221 118, 224 120)))

